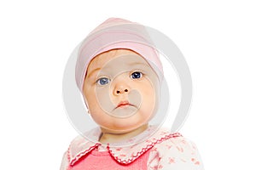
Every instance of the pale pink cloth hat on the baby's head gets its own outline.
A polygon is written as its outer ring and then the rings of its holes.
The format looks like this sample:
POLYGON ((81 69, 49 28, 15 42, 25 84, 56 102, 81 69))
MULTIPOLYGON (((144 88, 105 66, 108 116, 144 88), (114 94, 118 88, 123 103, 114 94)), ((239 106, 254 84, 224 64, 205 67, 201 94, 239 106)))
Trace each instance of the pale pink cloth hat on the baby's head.
POLYGON ((146 28, 129 20, 110 18, 91 31, 80 45, 75 77, 81 92, 90 60, 97 54, 116 48, 131 49, 142 55, 161 77, 163 68, 146 28))

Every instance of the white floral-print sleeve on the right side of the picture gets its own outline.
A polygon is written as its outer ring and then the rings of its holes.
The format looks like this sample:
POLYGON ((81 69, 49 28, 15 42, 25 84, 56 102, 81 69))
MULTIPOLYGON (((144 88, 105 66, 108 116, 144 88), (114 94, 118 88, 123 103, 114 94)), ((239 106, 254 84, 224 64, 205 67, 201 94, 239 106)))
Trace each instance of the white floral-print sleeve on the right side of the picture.
POLYGON ((148 158, 150 170, 203 170, 195 144, 183 137, 166 139, 156 144, 148 158))

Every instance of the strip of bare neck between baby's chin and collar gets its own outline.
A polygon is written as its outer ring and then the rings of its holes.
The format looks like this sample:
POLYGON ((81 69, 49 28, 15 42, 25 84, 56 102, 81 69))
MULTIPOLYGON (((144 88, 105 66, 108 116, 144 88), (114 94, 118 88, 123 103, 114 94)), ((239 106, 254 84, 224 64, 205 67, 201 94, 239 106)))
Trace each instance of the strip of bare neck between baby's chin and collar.
POLYGON ((140 133, 143 133, 144 130, 148 128, 148 124, 145 124, 141 127, 138 127, 135 130, 132 130, 131 132, 126 132, 126 133, 108 133, 106 129, 102 128, 102 135, 99 139, 99 142, 102 144, 111 144, 111 143, 116 143, 120 142, 125 139, 131 139, 135 136, 137 136, 140 133))

